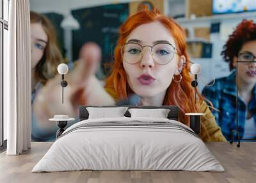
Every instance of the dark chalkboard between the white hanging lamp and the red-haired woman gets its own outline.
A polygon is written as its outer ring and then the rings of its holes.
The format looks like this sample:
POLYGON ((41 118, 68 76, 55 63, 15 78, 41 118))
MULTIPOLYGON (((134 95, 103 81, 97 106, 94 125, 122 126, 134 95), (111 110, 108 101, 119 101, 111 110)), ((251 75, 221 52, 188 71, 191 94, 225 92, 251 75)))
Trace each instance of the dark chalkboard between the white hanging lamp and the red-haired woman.
POLYGON ((102 65, 113 61, 118 28, 129 16, 129 4, 72 10, 72 15, 80 24, 80 29, 72 31, 73 60, 77 60, 79 49, 85 42, 93 41, 102 49, 102 65))

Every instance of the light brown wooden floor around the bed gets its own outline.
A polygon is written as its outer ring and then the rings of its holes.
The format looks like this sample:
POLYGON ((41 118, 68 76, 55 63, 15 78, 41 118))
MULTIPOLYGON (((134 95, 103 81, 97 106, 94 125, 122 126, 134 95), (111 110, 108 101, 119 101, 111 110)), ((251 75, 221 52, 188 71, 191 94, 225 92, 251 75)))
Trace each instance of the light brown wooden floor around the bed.
POLYGON ((52 143, 32 143, 22 155, 0 154, 0 182, 256 182, 256 143, 207 143, 225 172, 195 171, 64 171, 31 173, 52 143))

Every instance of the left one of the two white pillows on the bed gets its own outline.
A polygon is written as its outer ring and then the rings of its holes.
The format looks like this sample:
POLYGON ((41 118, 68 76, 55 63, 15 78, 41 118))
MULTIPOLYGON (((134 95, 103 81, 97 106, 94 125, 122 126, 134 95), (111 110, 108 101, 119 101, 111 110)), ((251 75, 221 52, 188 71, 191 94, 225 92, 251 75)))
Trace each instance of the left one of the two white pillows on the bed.
POLYGON ((95 118, 120 118, 125 117, 124 114, 128 107, 86 107, 89 113, 89 119, 95 118))

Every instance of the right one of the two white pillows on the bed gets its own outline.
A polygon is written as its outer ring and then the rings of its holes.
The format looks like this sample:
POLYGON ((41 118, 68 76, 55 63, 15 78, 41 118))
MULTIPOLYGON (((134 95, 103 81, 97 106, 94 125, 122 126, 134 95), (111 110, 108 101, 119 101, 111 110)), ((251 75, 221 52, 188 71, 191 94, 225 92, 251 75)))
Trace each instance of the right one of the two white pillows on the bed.
POLYGON ((167 118, 170 109, 128 109, 131 118, 134 117, 150 117, 150 118, 167 118))

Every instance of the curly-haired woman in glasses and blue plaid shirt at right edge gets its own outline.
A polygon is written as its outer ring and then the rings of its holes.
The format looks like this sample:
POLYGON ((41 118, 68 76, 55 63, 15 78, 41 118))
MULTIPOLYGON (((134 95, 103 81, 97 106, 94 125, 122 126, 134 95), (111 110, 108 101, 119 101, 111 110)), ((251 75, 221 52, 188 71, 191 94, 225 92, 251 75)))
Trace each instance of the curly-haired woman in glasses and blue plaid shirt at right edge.
MULTIPOLYGON (((232 73, 216 79, 214 86, 204 88, 202 94, 218 110, 212 111, 226 139, 230 139, 236 129, 243 139, 256 138, 256 24, 243 20, 229 36, 221 52, 229 63, 232 73), (237 61, 239 63, 237 64, 237 61), (255 62, 253 62, 255 61, 255 62), (236 65, 238 73, 236 78, 236 65), (238 111, 236 114, 236 79, 238 111)), ((236 134, 233 134, 236 135, 236 134)))

